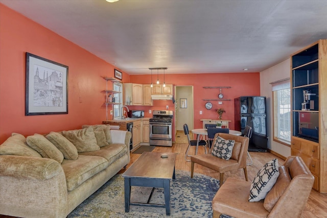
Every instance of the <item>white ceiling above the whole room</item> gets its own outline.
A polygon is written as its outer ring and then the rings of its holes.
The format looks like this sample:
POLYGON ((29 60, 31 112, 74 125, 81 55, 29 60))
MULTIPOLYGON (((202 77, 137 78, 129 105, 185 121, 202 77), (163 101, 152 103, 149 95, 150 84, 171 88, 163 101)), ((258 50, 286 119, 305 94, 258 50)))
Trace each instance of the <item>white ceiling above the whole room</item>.
POLYGON ((130 75, 150 74, 149 67, 168 67, 166 74, 258 72, 327 38, 325 0, 0 3, 130 75))

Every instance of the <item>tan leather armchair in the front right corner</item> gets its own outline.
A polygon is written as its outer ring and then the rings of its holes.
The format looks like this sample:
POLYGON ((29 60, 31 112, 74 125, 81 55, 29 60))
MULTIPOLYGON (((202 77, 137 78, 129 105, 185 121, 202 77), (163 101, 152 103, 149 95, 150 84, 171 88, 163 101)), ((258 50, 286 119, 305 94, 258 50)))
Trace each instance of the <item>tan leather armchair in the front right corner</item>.
POLYGON ((220 214, 242 218, 300 217, 314 177, 300 157, 290 156, 284 165, 286 167, 279 167, 278 179, 266 198, 259 202, 248 201, 251 182, 228 178, 213 199, 214 218, 220 217, 220 214), (285 171, 282 171, 283 167, 285 171))

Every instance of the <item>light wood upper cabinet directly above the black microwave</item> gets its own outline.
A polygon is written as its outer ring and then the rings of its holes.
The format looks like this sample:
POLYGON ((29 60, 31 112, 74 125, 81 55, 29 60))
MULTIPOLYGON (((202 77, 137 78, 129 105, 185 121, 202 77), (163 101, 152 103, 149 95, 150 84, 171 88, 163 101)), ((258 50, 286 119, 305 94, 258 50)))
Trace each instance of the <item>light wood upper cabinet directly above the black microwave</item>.
POLYGON ((136 83, 124 83, 125 105, 143 105, 143 85, 136 83))

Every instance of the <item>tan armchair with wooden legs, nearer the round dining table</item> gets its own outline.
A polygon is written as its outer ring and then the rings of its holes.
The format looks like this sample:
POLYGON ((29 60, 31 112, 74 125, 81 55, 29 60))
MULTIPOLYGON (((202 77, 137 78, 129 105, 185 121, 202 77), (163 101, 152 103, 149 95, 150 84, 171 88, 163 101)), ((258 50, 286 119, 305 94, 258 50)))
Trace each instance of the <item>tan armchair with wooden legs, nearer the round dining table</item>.
MULTIPOLYGON (((194 164, 200 164, 202 166, 208 167, 220 173, 220 186, 223 184, 224 173, 228 171, 233 171, 235 169, 243 168, 245 180, 247 179, 246 171, 246 157, 247 149, 249 147, 249 139, 243 136, 236 136, 227 133, 217 133, 215 135, 214 141, 217 135, 224 138, 225 140, 235 140, 235 144, 232 150, 231 158, 229 160, 224 160, 215 157, 209 151, 208 154, 192 155, 191 156, 191 178, 193 178, 194 164)), ((213 146, 211 150, 213 149, 213 146)))

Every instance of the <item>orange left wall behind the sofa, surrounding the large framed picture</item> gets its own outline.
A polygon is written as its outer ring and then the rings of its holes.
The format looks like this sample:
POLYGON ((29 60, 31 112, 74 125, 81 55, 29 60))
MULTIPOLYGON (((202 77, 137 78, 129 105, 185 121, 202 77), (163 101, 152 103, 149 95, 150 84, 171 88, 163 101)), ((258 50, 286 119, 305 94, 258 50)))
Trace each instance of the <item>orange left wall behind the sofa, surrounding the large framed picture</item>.
POLYGON ((12 132, 43 134, 105 120, 101 77, 114 76, 112 65, 2 4, 0 28, 0 143, 12 132), (69 67, 68 114, 25 116, 26 52, 69 67))

